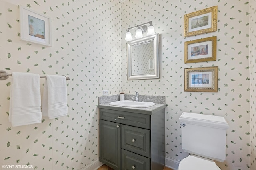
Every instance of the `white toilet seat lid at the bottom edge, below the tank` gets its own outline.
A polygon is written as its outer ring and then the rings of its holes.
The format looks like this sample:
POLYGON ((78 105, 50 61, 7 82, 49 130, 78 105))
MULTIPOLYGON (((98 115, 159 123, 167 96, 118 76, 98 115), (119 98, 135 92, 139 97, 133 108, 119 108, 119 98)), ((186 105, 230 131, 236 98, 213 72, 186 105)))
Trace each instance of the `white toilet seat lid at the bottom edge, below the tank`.
POLYGON ((211 160, 189 155, 180 161, 178 170, 220 170, 211 160))

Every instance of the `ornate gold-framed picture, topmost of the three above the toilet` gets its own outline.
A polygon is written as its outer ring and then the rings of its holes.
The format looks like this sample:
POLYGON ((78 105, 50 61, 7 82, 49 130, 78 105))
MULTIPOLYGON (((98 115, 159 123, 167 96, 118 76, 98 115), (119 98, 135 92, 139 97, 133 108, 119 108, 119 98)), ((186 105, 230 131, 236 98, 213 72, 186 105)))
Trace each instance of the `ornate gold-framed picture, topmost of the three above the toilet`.
POLYGON ((184 37, 217 31, 217 6, 184 15, 184 37))

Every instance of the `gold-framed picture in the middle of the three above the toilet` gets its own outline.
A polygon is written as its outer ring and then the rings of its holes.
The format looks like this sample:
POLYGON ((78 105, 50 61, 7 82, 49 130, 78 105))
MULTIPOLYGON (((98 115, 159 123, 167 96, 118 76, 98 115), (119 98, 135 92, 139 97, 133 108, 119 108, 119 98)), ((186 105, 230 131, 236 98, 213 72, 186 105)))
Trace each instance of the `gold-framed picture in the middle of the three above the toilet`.
POLYGON ((184 63, 216 60, 216 36, 184 43, 184 63))

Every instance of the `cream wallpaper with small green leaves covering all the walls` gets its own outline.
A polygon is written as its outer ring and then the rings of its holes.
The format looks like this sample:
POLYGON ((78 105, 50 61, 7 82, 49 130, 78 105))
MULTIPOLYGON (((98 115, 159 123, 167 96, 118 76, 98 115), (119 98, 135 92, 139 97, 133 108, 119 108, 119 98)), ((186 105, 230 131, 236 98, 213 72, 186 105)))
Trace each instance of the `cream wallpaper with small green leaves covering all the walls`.
POLYGON ((255 170, 255 8, 255 0, 0 0, 0 70, 70 77, 68 116, 20 127, 8 122, 12 78, 0 80, 0 165, 88 169, 99 157, 98 97, 124 89, 166 96, 167 165, 188 155, 178 120, 187 111, 228 122, 222 170, 255 170), (18 5, 51 17, 52 47, 20 41, 18 5), (184 38, 184 14, 211 6, 217 31, 184 38), (126 29, 148 21, 160 33, 160 79, 127 80, 126 29), (184 64, 184 42, 211 36, 217 60, 184 64), (219 68, 218 92, 184 92, 184 68, 208 66, 219 68))

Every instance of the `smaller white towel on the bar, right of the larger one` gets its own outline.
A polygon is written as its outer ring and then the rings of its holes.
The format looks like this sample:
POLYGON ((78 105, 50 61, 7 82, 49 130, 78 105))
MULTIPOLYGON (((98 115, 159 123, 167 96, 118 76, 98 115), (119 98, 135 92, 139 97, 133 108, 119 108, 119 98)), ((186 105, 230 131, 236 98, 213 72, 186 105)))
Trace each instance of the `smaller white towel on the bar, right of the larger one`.
POLYGON ((54 119, 68 114, 66 77, 46 75, 42 97, 42 116, 54 119))

